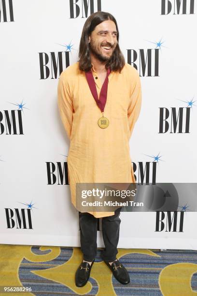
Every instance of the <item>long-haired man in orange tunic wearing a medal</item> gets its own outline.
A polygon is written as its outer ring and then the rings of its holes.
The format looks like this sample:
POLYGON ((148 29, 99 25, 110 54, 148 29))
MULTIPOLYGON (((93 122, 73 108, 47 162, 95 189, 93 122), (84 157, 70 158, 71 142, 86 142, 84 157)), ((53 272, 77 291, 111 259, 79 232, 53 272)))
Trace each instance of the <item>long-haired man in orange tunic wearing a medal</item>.
MULTIPOLYGON (((129 138, 141 109, 141 83, 135 68, 125 63, 113 15, 90 15, 83 28, 79 61, 63 71, 58 83, 58 107, 68 137, 68 174, 76 207, 76 183, 134 183, 129 138)), ((129 283, 127 269, 116 258, 120 210, 79 212, 84 260, 75 283, 89 279, 97 253, 97 218, 102 217, 104 262, 117 281, 129 283)))

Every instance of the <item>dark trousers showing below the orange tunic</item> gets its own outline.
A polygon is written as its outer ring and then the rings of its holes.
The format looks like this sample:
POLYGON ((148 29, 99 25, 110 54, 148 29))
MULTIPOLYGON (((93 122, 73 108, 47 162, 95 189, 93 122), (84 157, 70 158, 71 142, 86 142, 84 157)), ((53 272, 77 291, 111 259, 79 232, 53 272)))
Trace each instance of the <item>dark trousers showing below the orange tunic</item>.
MULTIPOLYGON (((115 261, 118 252, 120 211, 121 207, 115 210, 113 216, 102 218, 102 235, 105 244, 102 259, 107 262, 115 261)), ((79 212, 79 227, 84 260, 92 262, 97 255, 97 218, 89 213, 79 212)))

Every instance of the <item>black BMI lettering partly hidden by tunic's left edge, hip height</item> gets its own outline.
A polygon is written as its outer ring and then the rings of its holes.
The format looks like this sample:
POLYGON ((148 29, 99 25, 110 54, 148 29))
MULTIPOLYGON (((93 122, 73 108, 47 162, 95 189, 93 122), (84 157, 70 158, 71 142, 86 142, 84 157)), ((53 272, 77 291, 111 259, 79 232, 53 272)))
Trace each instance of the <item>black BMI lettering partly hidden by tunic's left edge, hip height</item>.
POLYGON ((68 164, 64 162, 46 162, 47 185, 69 185, 68 164))

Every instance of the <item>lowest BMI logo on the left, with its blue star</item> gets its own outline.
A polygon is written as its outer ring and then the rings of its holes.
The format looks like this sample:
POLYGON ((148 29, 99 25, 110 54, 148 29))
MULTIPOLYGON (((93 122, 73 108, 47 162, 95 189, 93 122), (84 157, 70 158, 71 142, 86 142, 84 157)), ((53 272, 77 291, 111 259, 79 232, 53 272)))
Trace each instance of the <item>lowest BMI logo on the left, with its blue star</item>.
POLYGON ((20 204, 26 205, 28 208, 5 208, 7 228, 33 229, 31 211, 34 204, 32 201, 30 204, 20 204))

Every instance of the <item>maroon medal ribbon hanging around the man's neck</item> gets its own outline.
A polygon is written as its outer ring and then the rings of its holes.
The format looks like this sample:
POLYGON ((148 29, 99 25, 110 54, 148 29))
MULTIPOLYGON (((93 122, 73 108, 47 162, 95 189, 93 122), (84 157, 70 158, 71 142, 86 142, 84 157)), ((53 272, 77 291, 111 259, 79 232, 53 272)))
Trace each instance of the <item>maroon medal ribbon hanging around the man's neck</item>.
POLYGON ((110 70, 110 68, 108 68, 107 69, 107 76, 105 78, 105 81, 103 82, 102 88, 100 90, 100 95, 98 97, 96 83, 95 83, 92 71, 89 70, 88 72, 85 72, 85 77, 87 79, 87 83, 89 85, 91 93, 92 93, 97 105, 99 106, 101 112, 104 111, 105 104, 107 101, 107 89, 108 89, 108 81, 109 81, 108 76, 110 73, 111 73, 111 70, 110 70))

